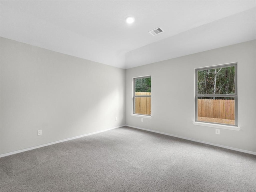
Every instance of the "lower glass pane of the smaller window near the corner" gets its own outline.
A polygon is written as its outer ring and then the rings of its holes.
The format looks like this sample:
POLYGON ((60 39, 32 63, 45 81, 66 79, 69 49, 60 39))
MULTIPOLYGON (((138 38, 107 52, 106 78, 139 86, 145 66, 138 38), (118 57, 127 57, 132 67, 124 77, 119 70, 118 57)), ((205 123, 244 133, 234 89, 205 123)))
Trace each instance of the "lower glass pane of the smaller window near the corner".
POLYGON ((151 97, 135 97, 135 113, 151 115, 151 97))

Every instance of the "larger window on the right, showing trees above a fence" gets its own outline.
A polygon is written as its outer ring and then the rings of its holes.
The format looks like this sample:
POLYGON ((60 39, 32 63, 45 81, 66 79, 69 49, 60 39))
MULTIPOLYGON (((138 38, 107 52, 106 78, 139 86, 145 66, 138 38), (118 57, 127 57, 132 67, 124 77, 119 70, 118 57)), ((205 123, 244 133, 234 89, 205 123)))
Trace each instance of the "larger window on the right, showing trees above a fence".
POLYGON ((237 126, 237 64, 195 69, 196 121, 237 126))

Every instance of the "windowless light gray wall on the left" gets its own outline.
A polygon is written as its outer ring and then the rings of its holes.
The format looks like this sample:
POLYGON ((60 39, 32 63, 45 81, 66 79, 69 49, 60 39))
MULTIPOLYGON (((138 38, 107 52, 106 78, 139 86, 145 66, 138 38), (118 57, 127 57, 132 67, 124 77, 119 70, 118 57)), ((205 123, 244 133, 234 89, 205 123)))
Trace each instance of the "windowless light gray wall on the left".
POLYGON ((125 70, 0 38, 0 154, 124 124, 125 70))

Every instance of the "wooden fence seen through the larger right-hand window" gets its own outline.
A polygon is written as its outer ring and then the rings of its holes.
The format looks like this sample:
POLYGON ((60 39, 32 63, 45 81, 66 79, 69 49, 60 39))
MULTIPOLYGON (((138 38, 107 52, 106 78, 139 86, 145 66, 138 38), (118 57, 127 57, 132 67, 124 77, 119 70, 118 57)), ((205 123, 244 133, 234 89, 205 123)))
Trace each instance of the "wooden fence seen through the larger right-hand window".
POLYGON ((235 100, 198 99, 198 117, 235 119, 235 100))

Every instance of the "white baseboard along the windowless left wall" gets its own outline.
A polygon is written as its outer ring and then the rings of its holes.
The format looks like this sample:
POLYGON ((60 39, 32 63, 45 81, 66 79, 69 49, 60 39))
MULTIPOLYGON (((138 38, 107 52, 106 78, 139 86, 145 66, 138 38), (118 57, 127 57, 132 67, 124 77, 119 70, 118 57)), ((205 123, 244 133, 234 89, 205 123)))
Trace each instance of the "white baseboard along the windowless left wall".
POLYGON ((56 144, 56 143, 61 143, 61 142, 64 142, 64 141, 69 141, 69 140, 78 139, 78 138, 81 138, 81 137, 85 137, 85 136, 89 136, 89 135, 109 131, 109 130, 120 128, 120 127, 123 127, 123 126, 125 126, 125 125, 120 125, 120 126, 117 126, 117 127, 108 128, 108 129, 104 129, 104 130, 101 130, 101 131, 96 131, 96 132, 92 132, 92 133, 88 133, 88 134, 84 134, 84 135, 79 135, 79 136, 75 136, 75 137, 71 137, 71 138, 66 138, 66 139, 62 139, 62 140, 59 140, 59 141, 54 141, 54 142, 50 142, 50 143, 46 143, 46 144, 42 144, 42 145, 30 147, 30 148, 26 148, 26 149, 21 149, 21 150, 9 152, 9 153, 0 154, 0 158, 5 157, 5 156, 9 156, 9 155, 13 155, 13 154, 17 154, 17 153, 21 153, 21 152, 25 152, 25 151, 29 151, 29 150, 33 150, 33 149, 37 149, 37 148, 41 148, 41 147, 45 147, 45 146, 49 146, 49 145, 53 145, 53 144, 56 144))

